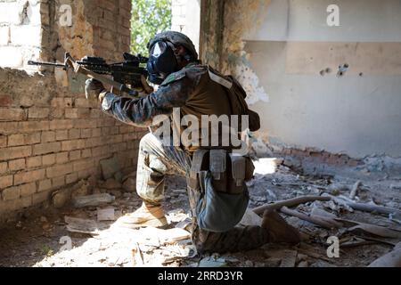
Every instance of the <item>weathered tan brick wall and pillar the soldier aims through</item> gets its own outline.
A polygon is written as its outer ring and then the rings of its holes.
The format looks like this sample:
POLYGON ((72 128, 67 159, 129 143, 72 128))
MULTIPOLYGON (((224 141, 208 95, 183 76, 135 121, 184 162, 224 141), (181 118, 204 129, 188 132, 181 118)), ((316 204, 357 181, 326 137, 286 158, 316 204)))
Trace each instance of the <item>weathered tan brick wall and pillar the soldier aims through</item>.
MULTIPOLYGON (((40 1, 40 59, 62 61, 70 52, 120 61, 129 51, 130 9, 130 0, 40 1), (61 4, 72 8, 71 26, 60 26, 61 4)), ((88 102, 85 77, 42 71, 0 69, 0 222, 49 201, 54 191, 100 178, 102 159, 116 156, 123 175, 135 173, 147 131, 120 124, 98 102, 88 102)))

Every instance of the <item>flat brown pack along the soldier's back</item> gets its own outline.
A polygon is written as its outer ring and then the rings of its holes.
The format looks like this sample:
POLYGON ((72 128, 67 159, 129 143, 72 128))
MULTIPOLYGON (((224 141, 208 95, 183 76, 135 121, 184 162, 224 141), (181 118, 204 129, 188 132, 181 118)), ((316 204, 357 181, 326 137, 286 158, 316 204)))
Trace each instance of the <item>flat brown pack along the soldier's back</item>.
MULTIPOLYGON (((249 116, 249 128, 251 132, 256 132, 260 129, 260 117, 257 112, 250 110, 245 98, 247 93, 242 88, 241 84, 233 76, 224 76, 217 70, 209 68, 209 77, 211 80, 217 82, 220 85, 225 86, 225 93, 227 94, 228 100, 231 105, 233 115, 247 115, 249 116)), ((241 119, 239 119, 241 124, 241 119)), ((244 131, 241 126, 241 131, 244 131)))

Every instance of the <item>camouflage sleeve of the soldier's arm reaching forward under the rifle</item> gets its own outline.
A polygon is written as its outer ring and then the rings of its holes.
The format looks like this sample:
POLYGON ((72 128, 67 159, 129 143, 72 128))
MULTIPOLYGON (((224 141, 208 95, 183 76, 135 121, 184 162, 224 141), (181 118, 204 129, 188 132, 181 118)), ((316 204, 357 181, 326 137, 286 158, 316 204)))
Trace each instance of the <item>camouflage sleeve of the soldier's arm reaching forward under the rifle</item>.
POLYGON ((184 106, 192 88, 192 81, 184 77, 168 85, 160 85, 156 92, 139 99, 107 93, 102 101, 102 111, 129 125, 151 126, 154 117, 170 115, 173 108, 184 106))

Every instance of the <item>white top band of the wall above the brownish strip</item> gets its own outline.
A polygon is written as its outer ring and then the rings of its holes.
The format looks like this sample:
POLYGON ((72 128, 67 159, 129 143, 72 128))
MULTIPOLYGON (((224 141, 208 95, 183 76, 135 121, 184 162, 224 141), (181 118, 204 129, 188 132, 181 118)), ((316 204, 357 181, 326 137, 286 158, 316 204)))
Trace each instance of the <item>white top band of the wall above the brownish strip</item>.
POLYGON ((270 0, 266 19, 243 35, 257 41, 401 42, 399 0, 270 0), (327 25, 327 7, 340 8, 340 27, 327 25))

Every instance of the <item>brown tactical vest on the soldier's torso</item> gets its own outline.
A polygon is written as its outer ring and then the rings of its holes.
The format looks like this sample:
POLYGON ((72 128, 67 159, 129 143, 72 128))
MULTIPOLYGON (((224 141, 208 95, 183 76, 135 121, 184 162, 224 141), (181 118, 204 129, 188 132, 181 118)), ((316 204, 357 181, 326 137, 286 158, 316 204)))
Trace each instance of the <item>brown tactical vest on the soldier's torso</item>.
POLYGON ((172 128, 176 134, 179 134, 184 148, 190 152, 200 148, 225 150, 241 148, 239 133, 247 126, 252 131, 259 126, 258 114, 254 113, 256 114, 254 115, 248 109, 245 102, 246 93, 241 85, 233 77, 225 77, 208 66, 194 64, 172 74, 162 85, 183 77, 188 77, 195 83, 184 107, 180 108, 179 120, 172 122, 172 128), (235 119, 231 115, 238 115, 238 117, 235 119), (243 119, 241 115, 249 115, 247 126, 241 125, 243 119), (184 124, 187 126, 182 126, 182 122, 185 121, 183 118, 188 118, 189 122, 184 124), (196 118, 198 129, 193 128, 192 118, 196 118), (192 126, 192 130, 186 131, 189 135, 181 135, 188 126, 192 126), (198 139, 192 138, 193 133, 198 134, 198 139))

